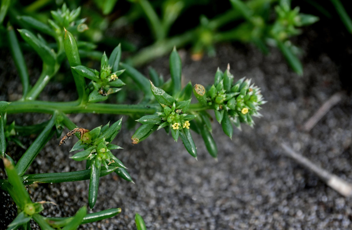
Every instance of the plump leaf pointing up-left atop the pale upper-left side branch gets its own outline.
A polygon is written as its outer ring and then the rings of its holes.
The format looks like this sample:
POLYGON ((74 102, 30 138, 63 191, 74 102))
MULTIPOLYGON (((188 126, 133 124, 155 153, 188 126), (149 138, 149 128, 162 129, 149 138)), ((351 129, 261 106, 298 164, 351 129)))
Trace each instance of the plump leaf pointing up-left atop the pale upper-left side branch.
POLYGON ((38 37, 27 29, 18 29, 21 37, 39 54, 44 63, 54 65, 56 60, 55 52, 46 46, 38 37))

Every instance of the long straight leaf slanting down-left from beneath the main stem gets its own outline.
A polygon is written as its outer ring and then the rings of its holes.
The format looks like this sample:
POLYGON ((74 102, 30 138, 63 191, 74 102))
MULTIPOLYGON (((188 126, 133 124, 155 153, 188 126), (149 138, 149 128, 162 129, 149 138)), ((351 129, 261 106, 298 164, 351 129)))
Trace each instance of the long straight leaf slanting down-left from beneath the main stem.
POLYGON ((48 125, 45 126, 44 130, 39 134, 39 136, 34 140, 34 142, 29 146, 27 151, 22 155, 16 164, 16 170, 18 175, 22 176, 28 167, 33 162, 34 158, 38 155, 39 151, 44 147, 46 142, 52 137, 55 133, 55 130, 52 127, 55 125, 57 117, 57 112, 54 112, 51 119, 49 120, 48 125))

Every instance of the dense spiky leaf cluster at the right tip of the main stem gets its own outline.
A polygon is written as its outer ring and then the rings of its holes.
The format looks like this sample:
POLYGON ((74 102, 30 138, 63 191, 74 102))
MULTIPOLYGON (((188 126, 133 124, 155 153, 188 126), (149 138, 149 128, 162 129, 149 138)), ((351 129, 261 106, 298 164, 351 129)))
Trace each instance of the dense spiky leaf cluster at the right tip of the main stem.
POLYGON ((228 66, 225 73, 216 71, 214 84, 206 91, 202 85, 194 86, 194 94, 204 106, 210 106, 215 118, 222 125, 225 134, 232 138, 232 124, 240 129, 240 123, 253 127, 253 117, 260 117, 258 112, 266 101, 260 94, 260 88, 251 85, 251 79, 241 78, 236 83, 228 66))

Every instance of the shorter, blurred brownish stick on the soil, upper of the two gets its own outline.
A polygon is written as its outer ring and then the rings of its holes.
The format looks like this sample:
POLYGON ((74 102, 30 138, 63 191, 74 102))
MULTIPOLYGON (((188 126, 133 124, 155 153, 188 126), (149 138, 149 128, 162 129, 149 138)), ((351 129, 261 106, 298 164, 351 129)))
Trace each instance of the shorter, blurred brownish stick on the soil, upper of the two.
POLYGON ((316 123, 337 103, 342 99, 342 92, 337 92, 331 96, 325 103, 319 108, 309 120, 304 123, 303 130, 309 132, 316 123))

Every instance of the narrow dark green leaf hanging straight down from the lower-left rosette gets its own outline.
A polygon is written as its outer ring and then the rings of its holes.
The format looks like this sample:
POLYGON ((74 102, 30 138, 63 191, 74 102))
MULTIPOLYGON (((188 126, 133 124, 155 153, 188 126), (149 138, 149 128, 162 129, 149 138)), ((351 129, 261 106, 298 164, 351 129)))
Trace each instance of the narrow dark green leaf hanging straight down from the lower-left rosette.
POLYGON ((90 209, 94 208, 96 198, 98 197, 98 187, 100 178, 100 167, 101 163, 97 158, 94 158, 90 163, 90 180, 89 180, 89 193, 88 203, 90 209))

